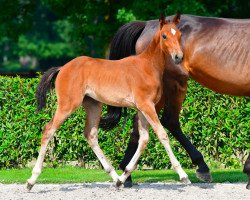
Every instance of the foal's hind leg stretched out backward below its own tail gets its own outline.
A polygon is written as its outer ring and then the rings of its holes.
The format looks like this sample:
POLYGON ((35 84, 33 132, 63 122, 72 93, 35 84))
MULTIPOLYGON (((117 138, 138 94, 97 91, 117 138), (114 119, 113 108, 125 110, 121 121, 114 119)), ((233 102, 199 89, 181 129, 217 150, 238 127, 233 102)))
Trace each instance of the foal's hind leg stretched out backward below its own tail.
POLYGON ((74 110, 72 109, 72 107, 68 107, 66 109, 65 108, 66 107, 61 109, 61 107, 58 106, 54 117, 49 123, 47 123, 47 125, 45 126, 43 130, 40 152, 39 152, 35 167, 32 170, 32 176, 30 179, 27 180, 27 189, 29 191, 32 189, 32 187, 36 183, 38 176, 42 172, 43 161, 44 161, 44 157, 45 157, 45 153, 46 153, 49 141, 53 138, 55 131, 59 128, 59 126, 63 123, 63 121, 74 110))

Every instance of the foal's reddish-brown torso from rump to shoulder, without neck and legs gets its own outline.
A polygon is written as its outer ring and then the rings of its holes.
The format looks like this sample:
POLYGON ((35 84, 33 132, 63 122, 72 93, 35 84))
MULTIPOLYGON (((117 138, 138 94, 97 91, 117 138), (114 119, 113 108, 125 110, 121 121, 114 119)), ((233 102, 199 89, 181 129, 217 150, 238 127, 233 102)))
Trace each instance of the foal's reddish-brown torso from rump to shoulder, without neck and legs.
POLYGON ((153 90, 158 84, 156 78, 150 61, 140 56, 121 60, 81 56, 61 68, 56 88, 59 100, 87 95, 109 105, 134 107, 134 95, 151 87, 153 90))

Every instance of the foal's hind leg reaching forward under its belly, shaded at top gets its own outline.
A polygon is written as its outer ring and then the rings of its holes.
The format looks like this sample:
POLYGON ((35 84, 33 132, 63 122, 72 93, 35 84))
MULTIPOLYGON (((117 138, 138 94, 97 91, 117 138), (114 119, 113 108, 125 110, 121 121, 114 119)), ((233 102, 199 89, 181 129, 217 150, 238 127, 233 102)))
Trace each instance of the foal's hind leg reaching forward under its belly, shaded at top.
POLYGON ((101 162, 104 170, 112 177, 114 182, 118 181, 118 174, 114 167, 110 164, 103 151, 98 144, 98 125, 101 118, 102 104, 92 98, 85 97, 83 106, 86 110, 86 125, 84 135, 88 144, 101 162))

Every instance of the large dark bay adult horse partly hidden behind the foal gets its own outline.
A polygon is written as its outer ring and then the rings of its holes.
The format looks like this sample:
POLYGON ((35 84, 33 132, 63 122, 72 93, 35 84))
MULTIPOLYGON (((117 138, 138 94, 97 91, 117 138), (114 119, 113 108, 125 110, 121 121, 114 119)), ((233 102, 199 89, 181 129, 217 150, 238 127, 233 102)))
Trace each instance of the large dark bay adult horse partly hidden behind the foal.
MULTIPOLYGON (((172 16, 167 17, 171 20, 172 16)), ((156 20, 136 21, 125 24, 115 34, 111 43, 110 59, 120 59, 138 54, 147 47, 158 28, 156 20)), ((168 63, 164 76, 163 125, 173 134, 187 151, 193 164, 198 166, 197 177, 211 181, 211 175, 202 154, 182 133, 179 123, 181 106, 187 91, 189 75, 201 85, 235 96, 250 96, 250 20, 225 19, 183 15, 178 28, 182 32, 184 61, 182 67, 168 63)), ((101 120, 101 126, 112 128, 119 122, 121 108, 109 107, 108 115, 101 120)), ((120 164, 124 169, 137 146, 137 120, 120 164)), ((249 177, 250 155, 243 170, 249 177)), ((127 179, 126 185, 132 186, 127 179)))

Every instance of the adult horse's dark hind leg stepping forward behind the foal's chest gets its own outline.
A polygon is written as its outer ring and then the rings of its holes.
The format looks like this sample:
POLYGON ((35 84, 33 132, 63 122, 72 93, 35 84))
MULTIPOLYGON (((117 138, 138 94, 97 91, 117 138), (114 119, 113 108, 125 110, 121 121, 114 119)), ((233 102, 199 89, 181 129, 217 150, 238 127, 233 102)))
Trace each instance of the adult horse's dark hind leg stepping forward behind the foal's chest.
POLYGON ((182 103, 186 96, 187 81, 176 81, 171 77, 164 77, 165 106, 161 122, 170 133, 180 142, 187 151, 192 163, 198 166, 196 176, 202 181, 211 182, 212 177, 209 168, 205 163, 202 154, 195 148, 189 139, 183 134, 179 116, 182 103))

